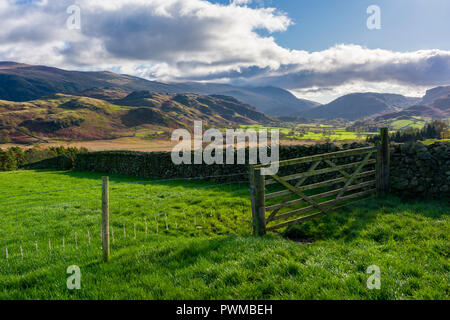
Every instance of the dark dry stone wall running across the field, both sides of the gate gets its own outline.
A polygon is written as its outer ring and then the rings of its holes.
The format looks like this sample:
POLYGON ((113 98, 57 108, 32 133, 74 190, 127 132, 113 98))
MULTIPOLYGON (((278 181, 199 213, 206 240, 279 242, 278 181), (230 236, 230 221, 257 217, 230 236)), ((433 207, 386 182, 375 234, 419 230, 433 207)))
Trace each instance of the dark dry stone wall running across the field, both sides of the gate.
MULTIPOLYGON (((293 159, 346 149, 361 148, 367 145, 352 144, 338 147, 333 144, 313 146, 291 146, 280 148, 280 158, 293 159)), ((360 159, 351 157, 340 159, 338 164, 360 159)), ((58 157, 27 166, 27 169, 57 168, 69 170, 94 171, 110 174, 125 174, 145 178, 194 178, 227 176, 220 181, 244 181, 248 179, 246 165, 180 165, 172 163, 169 152, 92 152, 77 155, 74 163, 58 157)), ((284 167, 280 175, 308 170, 310 164, 284 167)), ((324 167, 326 167, 324 165, 324 167)), ((319 167, 321 168, 321 167, 319 167)), ((369 168, 370 169, 370 168, 369 168)), ((373 170, 370 169, 370 170, 373 170)), ((339 173, 311 177, 308 183, 332 179, 339 173)), ((391 145, 391 193, 405 198, 449 198, 450 196, 450 143, 435 143, 425 146, 422 143, 391 145)))

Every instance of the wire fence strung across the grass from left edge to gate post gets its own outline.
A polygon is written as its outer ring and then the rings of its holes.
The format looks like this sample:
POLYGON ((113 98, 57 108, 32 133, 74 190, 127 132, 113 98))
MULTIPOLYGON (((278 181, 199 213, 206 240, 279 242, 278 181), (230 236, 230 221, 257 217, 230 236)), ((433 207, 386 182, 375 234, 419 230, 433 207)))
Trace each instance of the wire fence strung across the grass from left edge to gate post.
MULTIPOLYGON (((230 176, 112 181, 111 249, 163 236, 250 232, 247 180, 207 181, 230 176)), ((101 256, 100 183, 0 197, 0 214, 0 268, 27 259, 51 263, 52 257, 65 255, 101 256)))

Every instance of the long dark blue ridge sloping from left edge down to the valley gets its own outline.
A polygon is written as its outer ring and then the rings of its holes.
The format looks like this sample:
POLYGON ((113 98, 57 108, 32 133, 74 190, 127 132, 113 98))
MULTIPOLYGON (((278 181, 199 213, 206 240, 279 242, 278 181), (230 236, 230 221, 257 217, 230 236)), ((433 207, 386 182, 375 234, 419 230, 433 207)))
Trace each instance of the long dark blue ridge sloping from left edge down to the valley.
MULTIPOLYGON (((296 115, 318 104, 297 99, 284 89, 275 87, 239 87, 215 83, 161 83, 112 72, 66 71, 46 66, 32 66, 14 62, 0 62, 0 99, 23 102, 56 93, 81 94, 102 89, 155 93, 195 93, 201 95, 232 96, 269 115, 296 115)), ((117 98, 117 97, 113 97, 117 98)))

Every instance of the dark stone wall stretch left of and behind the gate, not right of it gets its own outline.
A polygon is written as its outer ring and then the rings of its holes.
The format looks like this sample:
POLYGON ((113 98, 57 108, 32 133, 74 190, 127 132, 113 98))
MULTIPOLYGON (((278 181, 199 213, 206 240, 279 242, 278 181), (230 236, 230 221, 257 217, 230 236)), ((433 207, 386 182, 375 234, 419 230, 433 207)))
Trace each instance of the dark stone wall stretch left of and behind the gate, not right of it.
MULTIPOLYGON (((340 150, 361 148, 367 145, 351 144, 338 147, 334 144, 317 144, 311 146, 281 146, 280 159, 294 159, 299 157, 312 156, 317 154, 336 152, 340 150)), ((248 149, 246 150, 246 159, 248 159, 248 149)), ((226 157, 224 153, 224 158, 226 157)), ((358 161, 363 156, 353 156, 349 159, 340 159, 345 161, 358 161)), ((339 163, 339 162, 338 162, 339 163)), ((326 164, 322 164, 327 167, 326 164)), ((281 175, 293 174, 300 171, 306 171, 311 164, 301 164, 298 166, 283 167, 280 170, 281 175)), ((321 167, 319 167, 321 168, 321 167)), ((90 152, 80 154, 75 160, 75 170, 93 171, 109 174, 132 175, 143 178, 196 178, 196 177, 217 177, 225 176, 221 181, 244 181, 248 180, 248 165, 175 165, 171 159, 170 152, 132 152, 132 151, 104 151, 90 152)), ((331 179, 339 175, 334 173, 326 178, 331 179)), ((311 177, 310 183, 323 181, 325 177, 311 177), (320 180, 320 179, 322 180, 320 180)))

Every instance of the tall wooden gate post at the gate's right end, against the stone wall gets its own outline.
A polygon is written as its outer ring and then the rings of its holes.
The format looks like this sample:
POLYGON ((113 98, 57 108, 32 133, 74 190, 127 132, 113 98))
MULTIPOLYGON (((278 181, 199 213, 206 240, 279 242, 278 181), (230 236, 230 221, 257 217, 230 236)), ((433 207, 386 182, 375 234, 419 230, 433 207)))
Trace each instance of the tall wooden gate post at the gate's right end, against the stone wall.
POLYGON ((380 145, 377 154, 377 191, 379 195, 386 195, 389 191, 390 149, 389 129, 380 129, 380 145))

